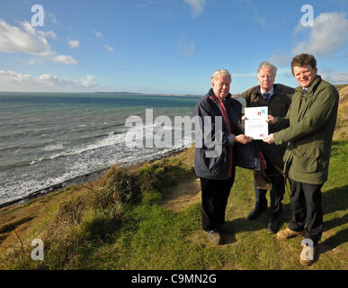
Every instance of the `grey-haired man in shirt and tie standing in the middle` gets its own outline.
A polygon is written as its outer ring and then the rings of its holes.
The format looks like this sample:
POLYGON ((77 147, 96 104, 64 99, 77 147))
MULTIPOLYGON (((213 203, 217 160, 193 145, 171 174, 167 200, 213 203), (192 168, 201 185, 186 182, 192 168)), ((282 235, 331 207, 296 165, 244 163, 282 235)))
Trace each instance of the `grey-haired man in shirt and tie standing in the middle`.
MULTIPOLYGON (((291 103, 292 94, 295 90, 289 86, 274 84, 277 73, 277 67, 270 62, 264 61, 257 69, 257 81, 259 85, 245 91, 242 96, 245 99, 245 107, 267 106, 270 115, 285 116, 291 103)), ((270 127, 270 132, 277 131, 270 127)), ((285 193, 285 181, 281 173, 285 146, 268 145, 262 140, 253 140, 254 145, 263 153, 266 160, 265 175, 271 181, 272 188, 270 192, 271 206, 269 210, 268 231, 276 233, 279 230, 279 216, 281 214, 281 201, 285 193)), ((269 186, 259 186, 256 181, 260 174, 254 174, 254 193, 256 204, 254 210, 250 212, 247 219, 254 220, 262 211, 267 209, 266 193, 269 186)))

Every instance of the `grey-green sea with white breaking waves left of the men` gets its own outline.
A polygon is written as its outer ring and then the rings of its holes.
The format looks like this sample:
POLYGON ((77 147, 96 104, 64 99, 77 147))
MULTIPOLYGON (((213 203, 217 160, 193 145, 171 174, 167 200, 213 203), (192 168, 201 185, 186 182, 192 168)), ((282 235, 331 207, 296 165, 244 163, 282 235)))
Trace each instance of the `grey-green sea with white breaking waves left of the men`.
POLYGON ((175 127, 174 119, 192 117, 200 99, 129 93, 1 92, 0 207, 85 182, 116 164, 134 165, 190 147, 194 125, 189 135, 183 127, 175 127), (166 121, 156 121, 161 120, 159 116, 165 116, 166 121), (131 124, 132 119, 138 121, 131 124), (175 129, 182 129, 181 142, 173 137, 165 147, 147 145, 151 143, 147 140, 158 134, 164 138, 164 130, 179 135, 175 129), (133 143, 138 139, 138 146, 127 144, 126 139, 132 137, 133 143), (140 138, 143 145, 139 145, 140 138))

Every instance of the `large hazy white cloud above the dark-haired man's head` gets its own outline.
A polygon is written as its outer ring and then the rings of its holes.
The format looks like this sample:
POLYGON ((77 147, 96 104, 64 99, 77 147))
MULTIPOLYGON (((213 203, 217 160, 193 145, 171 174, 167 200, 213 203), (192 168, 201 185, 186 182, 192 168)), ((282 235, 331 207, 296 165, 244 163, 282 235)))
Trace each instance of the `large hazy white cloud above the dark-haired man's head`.
POLYGON ((292 49, 293 54, 309 53, 317 57, 326 57, 344 47, 348 40, 348 20, 342 13, 319 14, 313 26, 300 24, 294 34, 309 29, 308 41, 301 41, 292 49))

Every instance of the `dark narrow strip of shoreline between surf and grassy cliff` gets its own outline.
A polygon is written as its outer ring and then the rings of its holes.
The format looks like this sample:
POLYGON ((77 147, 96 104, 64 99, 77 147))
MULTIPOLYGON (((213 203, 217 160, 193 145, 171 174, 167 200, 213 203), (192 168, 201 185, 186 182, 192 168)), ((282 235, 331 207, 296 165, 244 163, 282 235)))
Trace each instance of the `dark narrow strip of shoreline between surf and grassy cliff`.
MULTIPOLYGON (((162 159, 162 158, 165 158, 165 157, 172 157, 180 152, 183 152, 183 150, 185 150, 185 149, 186 148, 174 148, 173 150, 165 152, 164 154, 162 154, 160 156, 155 156, 155 157, 152 157, 148 160, 139 161, 136 163, 125 163, 125 164, 122 164, 120 166, 126 166, 126 167, 141 166, 141 165, 144 165, 145 163, 152 163, 152 162, 155 162, 155 161, 162 159)), ((116 165, 116 164, 114 164, 114 165, 116 165)), ((112 165, 112 166, 114 166, 114 165, 112 165)), ((29 193, 28 195, 22 196, 21 198, 11 200, 8 202, 0 203, 0 209, 3 209, 4 207, 13 206, 13 205, 20 205, 20 204, 23 204, 25 202, 29 202, 32 199, 37 199, 37 198, 43 197, 49 193, 53 193, 53 192, 56 192, 58 190, 65 189, 69 186, 72 186, 75 184, 83 184, 85 182, 95 180, 98 177, 98 175, 104 174, 105 172, 110 170, 112 168, 112 166, 108 166, 108 167, 105 167, 105 168, 102 168, 99 170, 95 170, 95 171, 92 171, 92 172, 89 172, 89 173, 86 173, 83 175, 77 175, 77 176, 75 176, 71 179, 67 179, 66 181, 63 181, 61 183, 49 185, 46 188, 42 188, 42 189, 39 189, 39 190, 34 191, 32 193, 29 193)))

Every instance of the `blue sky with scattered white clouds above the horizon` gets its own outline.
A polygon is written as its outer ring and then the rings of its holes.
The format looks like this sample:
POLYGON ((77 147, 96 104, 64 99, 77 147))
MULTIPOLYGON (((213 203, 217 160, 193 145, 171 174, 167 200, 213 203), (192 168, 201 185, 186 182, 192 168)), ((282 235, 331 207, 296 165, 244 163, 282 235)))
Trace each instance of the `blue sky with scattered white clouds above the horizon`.
POLYGON ((348 0, 1 0, 0 91, 206 94, 227 68, 240 94, 264 60, 297 86, 299 53, 343 84, 347 43, 348 0))

